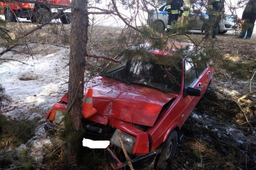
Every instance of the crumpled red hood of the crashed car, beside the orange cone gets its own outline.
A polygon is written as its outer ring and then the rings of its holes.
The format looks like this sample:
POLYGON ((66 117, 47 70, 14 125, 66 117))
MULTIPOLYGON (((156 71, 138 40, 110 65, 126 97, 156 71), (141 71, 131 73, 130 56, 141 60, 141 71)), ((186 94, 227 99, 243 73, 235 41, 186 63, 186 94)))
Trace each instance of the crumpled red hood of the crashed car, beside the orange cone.
MULTIPOLYGON (((173 93, 104 77, 90 80, 86 88, 93 88, 93 107, 97 114, 145 126, 153 126, 162 106, 176 97, 173 93)), ((67 102, 67 95, 61 100, 67 102)))

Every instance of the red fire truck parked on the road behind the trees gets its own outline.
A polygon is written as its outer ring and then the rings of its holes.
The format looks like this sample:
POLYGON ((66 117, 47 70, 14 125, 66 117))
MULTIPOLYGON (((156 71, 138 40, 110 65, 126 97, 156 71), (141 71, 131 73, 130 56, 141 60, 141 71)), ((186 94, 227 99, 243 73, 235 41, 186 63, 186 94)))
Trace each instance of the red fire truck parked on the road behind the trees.
MULTIPOLYGON (((4 1, 4 0, 1 0, 4 1)), ((0 3, 0 8, 3 8, 5 20, 9 22, 16 22, 17 18, 26 18, 31 20, 32 23, 45 23, 58 10, 62 9, 58 5, 70 5, 71 0, 36 0, 38 3, 21 3, 14 1, 4 1, 0 3), (40 2, 45 3, 40 3, 40 2), (56 4, 56 5, 52 5, 56 4)), ((1 11, 1 9, 0 9, 1 11)), ((64 10, 62 14, 57 16, 55 19, 60 18, 63 24, 70 24, 70 13, 71 9, 64 10)))

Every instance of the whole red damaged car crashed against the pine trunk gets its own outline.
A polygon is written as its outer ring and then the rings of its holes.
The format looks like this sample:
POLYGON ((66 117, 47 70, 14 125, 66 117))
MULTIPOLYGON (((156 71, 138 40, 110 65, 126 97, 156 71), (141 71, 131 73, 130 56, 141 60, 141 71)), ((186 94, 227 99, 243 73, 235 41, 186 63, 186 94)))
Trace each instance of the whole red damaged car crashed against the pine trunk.
MULTIPOLYGON (((181 126, 211 82, 212 61, 203 49, 187 43, 147 52, 131 48, 116 60, 120 62, 108 64, 86 85, 85 92, 93 89, 94 111, 88 117, 83 106, 84 138, 110 141, 106 154, 112 168, 125 169, 119 129, 134 169, 168 169, 181 126)), ((50 109, 46 127, 61 122, 67 102, 66 94, 50 109)))

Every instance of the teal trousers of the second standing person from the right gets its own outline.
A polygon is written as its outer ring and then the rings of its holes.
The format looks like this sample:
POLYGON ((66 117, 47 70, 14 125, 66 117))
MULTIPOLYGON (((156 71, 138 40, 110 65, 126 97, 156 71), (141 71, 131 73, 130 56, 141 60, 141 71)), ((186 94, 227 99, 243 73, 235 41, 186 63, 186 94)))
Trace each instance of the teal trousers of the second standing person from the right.
POLYGON ((215 37, 219 32, 219 24, 220 24, 220 15, 209 15, 207 26, 206 26, 206 36, 209 36, 209 32, 212 30, 212 37, 215 37))

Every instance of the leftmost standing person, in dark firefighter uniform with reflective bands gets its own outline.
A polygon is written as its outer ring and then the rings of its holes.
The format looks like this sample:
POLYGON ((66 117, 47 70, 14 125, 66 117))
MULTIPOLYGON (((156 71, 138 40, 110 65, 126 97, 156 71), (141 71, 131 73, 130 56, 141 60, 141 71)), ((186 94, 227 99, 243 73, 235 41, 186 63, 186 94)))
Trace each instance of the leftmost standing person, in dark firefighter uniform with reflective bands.
POLYGON ((183 0, 167 0, 166 10, 168 12, 167 32, 171 32, 171 25, 177 22, 179 12, 183 12, 183 0))

